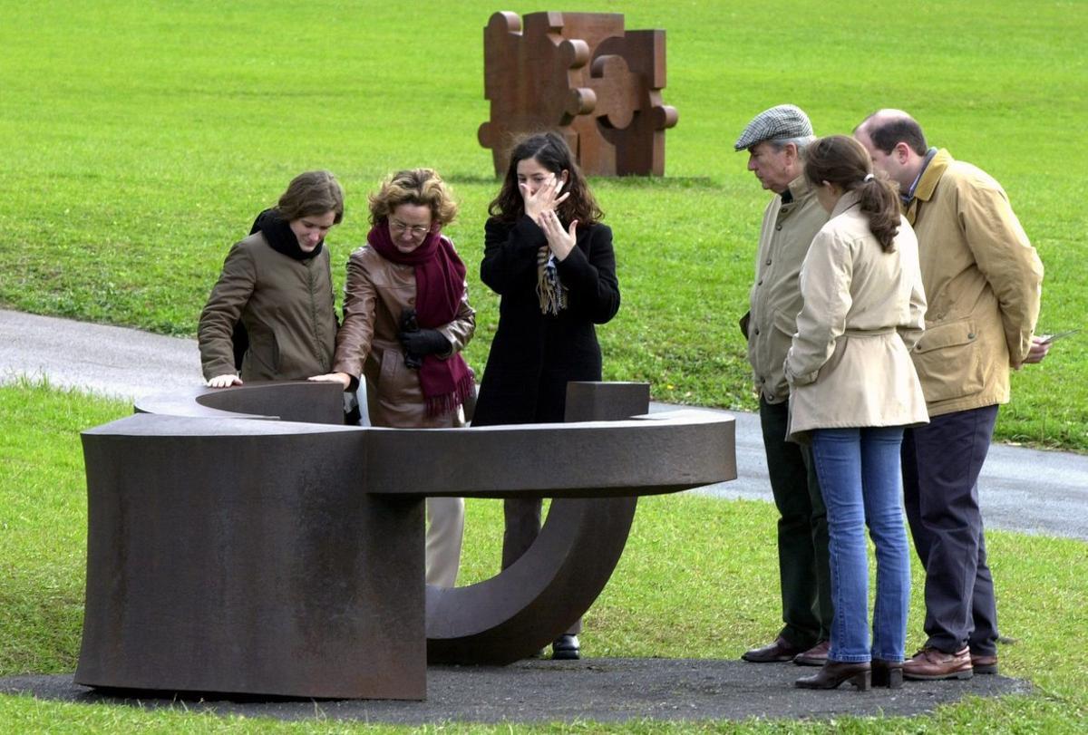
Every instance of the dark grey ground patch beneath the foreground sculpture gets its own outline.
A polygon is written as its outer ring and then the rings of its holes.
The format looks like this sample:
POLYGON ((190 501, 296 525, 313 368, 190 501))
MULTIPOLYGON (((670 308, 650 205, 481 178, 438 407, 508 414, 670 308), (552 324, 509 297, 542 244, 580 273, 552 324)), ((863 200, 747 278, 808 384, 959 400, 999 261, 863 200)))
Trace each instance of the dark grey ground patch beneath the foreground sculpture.
MULTIPOLYGON (((429 667, 425 701, 272 699, 88 689, 72 675, 0 678, 0 694, 128 706, 141 710, 214 712, 279 720, 431 724, 801 719, 913 715, 967 696, 1029 694, 1027 682, 975 676, 966 682, 905 682, 901 689, 798 689, 815 669, 792 663, 713 659, 526 660, 509 667, 429 667), (133 696, 138 694, 138 698, 133 696)), ((335 725, 329 725, 334 728, 335 725)), ((652 727, 647 727, 652 730, 652 727)))

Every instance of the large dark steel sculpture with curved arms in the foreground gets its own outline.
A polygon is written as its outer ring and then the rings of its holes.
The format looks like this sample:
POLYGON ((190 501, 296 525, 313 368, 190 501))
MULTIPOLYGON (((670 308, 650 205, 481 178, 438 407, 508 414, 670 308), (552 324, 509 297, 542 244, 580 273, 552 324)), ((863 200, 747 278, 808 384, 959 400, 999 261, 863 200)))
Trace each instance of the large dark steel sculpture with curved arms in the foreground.
POLYGON ((634 495, 735 477, 731 418, 605 423, 590 420, 645 413, 648 388, 569 396, 578 423, 390 429, 336 425, 334 385, 247 384, 145 400, 88 429, 75 681, 422 699, 428 659, 539 649, 604 587, 634 495), (441 495, 558 499, 522 560, 442 590, 423 584, 423 500, 441 495))

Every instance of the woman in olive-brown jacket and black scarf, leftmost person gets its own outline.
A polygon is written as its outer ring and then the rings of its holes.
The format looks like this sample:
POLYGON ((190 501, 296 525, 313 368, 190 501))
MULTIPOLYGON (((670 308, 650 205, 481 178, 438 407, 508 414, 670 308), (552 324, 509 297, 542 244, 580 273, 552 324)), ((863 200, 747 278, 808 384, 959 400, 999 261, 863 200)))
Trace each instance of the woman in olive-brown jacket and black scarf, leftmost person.
POLYGON ((293 178, 275 209, 261 212, 249 237, 231 248, 200 314, 200 362, 209 386, 297 381, 329 371, 336 312, 324 237, 343 219, 336 177, 309 171, 293 178), (238 334, 247 337, 242 349, 238 334))

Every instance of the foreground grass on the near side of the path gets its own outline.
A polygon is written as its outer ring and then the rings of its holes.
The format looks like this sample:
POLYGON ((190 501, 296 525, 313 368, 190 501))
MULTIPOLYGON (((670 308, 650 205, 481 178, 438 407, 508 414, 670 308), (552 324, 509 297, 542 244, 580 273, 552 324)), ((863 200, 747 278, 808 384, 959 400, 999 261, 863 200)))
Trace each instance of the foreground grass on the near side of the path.
MULTIPOLYGON (((0 387, 0 676, 75 668, 83 620, 86 490, 78 432, 127 415, 123 402, 23 383, 0 387)), ((627 550, 585 616, 588 657, 735 658, 778 624, 775 511, 756 501, 663 496, 640 501, 627 550), (667 621, 667 623, 663 623, 667 621)), ((502 508, 470 500, 461 583, 498 568, 502 508)), ((1083 732, 1088 725, 1086 545, 989 534, 1002 630, 1019 639, 1001 651, 1002 671, 1031 680, 1031 696, 974 699, 912 719, 817 723, 705 723, 707 731, 1083 732)), ((915 564, 908 649, 922 643, 920 570, 915 564)), ((270 723, 185 712, 150 712, 0 697, 4 732, 409 732, 316 720, 270 723)), ((644 723, 635 732, 690 732, 644 723)), ((436 730, 436 728, 432 728, 436 730)), ((507 732, 443 727, 443 732, 507 732)), ((527 728, 534 730, 534 728, 527 728)), ((628 730, 594 723, 556 732, 628 730)), ((431 732, 431 731, 426 731, 431 732)))

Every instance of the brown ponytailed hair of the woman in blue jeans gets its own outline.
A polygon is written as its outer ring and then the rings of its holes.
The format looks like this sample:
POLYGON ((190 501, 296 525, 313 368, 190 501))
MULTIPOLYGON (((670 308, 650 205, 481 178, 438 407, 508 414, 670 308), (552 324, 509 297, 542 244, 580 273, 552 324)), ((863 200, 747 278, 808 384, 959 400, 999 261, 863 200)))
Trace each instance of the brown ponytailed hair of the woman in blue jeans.
POLYGON ((899 189, 883 172, 873 174, 873 160, 862 144, 845 135, 831 135, 808 144, 805 178, 813 186, 829 182, 843 191, 856 191, 873 236, 885 252, 895 249, 899 189))

